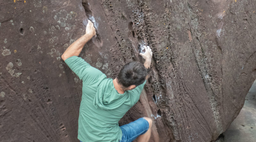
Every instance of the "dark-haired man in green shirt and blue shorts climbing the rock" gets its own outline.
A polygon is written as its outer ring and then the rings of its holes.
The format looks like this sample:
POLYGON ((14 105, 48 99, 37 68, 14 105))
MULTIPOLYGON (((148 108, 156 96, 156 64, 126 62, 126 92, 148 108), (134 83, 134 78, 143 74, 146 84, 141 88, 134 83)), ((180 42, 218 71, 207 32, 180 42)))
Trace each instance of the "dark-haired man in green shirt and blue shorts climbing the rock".
POLYGON ((83 80, 83 95, 79 109, 78 139, 81 142, 148 142, 152 120, 139 118, 118 126, 118 121, 139 100, 151 65, 152 51, 145 48, 140 55, 145 59, 125 64, 115 79, 107 78, 100 70, 78 57, 84 44, 95 34, 88 20, 86 33, 72 43, 61 58, 83 80))

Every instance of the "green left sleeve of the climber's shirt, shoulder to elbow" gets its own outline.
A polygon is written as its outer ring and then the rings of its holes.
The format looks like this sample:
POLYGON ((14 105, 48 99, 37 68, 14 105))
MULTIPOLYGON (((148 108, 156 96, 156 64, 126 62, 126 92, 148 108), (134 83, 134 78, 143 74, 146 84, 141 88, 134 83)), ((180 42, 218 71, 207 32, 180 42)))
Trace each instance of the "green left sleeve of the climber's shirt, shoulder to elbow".
POLYGON ((106 75, 100 70, 92 67, 84 61, 81 57, 72 56, 65 60, 68 67, 76 73, 76 75, 83 80, 83 84, 92 84, 99 81, 101 78, 106 78, 106 75))

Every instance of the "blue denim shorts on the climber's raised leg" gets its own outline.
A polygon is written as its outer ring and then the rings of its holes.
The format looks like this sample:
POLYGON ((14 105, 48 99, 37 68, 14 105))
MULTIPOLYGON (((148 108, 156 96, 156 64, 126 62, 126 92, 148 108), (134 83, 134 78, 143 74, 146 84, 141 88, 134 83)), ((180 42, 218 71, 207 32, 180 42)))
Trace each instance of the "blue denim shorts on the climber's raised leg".
POLYGON ((120 126, 123 132, 123 136, 122 136, 122 140, 120 140, 119 142, 132 142, 138 136, 146 133, 146 131, 148 131, 148 127, 149 127, 148 121, 143 117, 129 124, 120 126))

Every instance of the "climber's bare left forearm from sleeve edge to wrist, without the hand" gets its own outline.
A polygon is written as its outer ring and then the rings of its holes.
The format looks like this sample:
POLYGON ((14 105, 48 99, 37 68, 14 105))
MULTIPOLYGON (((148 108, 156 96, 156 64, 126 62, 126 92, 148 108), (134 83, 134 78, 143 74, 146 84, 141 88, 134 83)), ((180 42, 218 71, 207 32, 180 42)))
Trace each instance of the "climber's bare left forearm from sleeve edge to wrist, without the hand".
POLYGON ((65 61, 71 56, 78 56, 82 51, 84 44, 92 38, 92 34, 84 34, 78 40, 73 42, 68 49, 62 54, 61 58, 65 61))

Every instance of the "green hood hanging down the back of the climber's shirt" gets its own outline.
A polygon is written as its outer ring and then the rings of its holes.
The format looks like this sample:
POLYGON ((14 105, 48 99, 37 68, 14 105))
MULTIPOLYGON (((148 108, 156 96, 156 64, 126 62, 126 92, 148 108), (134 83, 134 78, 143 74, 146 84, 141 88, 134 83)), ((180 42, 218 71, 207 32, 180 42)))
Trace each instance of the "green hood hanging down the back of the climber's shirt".
POLYGON ((127 99, 126 92, 120 94, 116 91, 113 79, 106 78, 100 83, 95 97, 93 99, 93 105, 95 108, 101 108, 104 110, 110 110, 120 107, 127 99))

